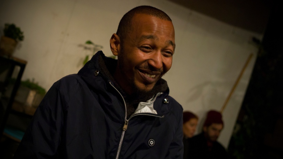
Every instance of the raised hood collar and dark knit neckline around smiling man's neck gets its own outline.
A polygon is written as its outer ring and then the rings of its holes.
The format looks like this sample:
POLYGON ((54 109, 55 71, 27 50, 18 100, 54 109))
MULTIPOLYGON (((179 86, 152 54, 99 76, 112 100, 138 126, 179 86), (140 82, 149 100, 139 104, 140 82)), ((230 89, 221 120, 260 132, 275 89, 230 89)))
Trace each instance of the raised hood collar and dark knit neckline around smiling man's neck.
MULTIPOLYGON (((81 76, 81 78, 83 78, 84 81, 86 81, 86 83, 88 83, 88 85, 100 91, 106 90, 107 83, 114 83, 115 88, 122 94, 123 98, 125 99, 127 109, 132 109, 127 110, 127 112, 129 111, 129 115, 136 110, 140 102, 147 102, 151 100, 151 98, 153 98, 153 96, 157 93, 162 93, 162 96, 167 96, 169 94, 167 82, 164 79, 160 78, 154 86, 153 90, 149 93, 146 93, 146 95, 127 95, 122 90, 122 88, 120 88, 120 86, 112 76, 116 66, 116 59, 106 57, 102 51, 98 51, 95 55, 93 55, 91 60, 83 66, 78 74, 79 76, 81 76), (102 82, 101 78, 98 77, 102 77, 103 81, 105 81, 104 85, 98 84, 98 82, 102 82)), ((156 98, 154 98, 154 100, 155 99, 156 98)))

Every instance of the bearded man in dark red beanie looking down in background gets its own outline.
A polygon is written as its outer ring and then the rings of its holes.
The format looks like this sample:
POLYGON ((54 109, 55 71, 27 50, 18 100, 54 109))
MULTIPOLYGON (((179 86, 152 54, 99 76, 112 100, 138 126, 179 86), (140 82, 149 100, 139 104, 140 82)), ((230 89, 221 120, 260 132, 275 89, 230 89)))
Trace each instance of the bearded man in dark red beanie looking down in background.
POLYGON ((220 112, 211 110, 202 127, 202 133, 189 139, 188 156, 192 159, 226 159, 225 148, 218 139, 224 123, 220 112))

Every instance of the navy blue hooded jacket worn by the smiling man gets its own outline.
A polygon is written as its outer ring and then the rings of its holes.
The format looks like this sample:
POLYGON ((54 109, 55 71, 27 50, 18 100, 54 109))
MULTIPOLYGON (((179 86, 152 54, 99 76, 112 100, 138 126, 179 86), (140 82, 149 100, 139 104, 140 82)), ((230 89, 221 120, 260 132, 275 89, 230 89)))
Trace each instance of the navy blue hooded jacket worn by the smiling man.
POLYGON ((99 56, 107 58, 100 51, 78 74, 53 84, 14 158, 182 158, 183 108, 169 89, 152 100, 157 113, 147 107, 127 119, 99 56))

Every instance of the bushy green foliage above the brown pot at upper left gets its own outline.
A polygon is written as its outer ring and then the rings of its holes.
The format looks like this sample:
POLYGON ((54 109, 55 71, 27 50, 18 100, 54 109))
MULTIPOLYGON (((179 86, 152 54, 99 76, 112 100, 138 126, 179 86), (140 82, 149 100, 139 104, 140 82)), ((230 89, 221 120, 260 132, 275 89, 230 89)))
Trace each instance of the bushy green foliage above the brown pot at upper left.
POLYGON ((21 28, 17 27, 15 24, 5 24, 4 36, 10 37, 16 41, 23 41, 24 35, 21 28))

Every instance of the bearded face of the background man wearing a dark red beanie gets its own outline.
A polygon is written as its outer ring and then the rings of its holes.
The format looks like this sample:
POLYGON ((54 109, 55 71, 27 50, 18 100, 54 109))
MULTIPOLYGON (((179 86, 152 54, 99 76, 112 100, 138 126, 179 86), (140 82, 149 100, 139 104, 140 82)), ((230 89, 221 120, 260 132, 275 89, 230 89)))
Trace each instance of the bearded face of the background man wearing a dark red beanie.
POLYGON ((213 123, 208 127, 204 126, 203 127, 204 136, 209 141, 216 141, 218 136, 220 135, 222 128, 223 128, 223 124, 217 124, 217 123, 213 123))

